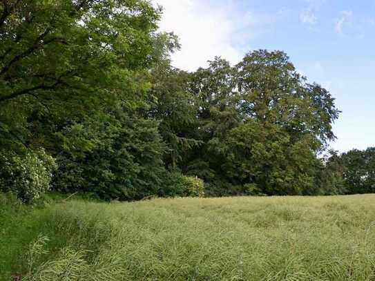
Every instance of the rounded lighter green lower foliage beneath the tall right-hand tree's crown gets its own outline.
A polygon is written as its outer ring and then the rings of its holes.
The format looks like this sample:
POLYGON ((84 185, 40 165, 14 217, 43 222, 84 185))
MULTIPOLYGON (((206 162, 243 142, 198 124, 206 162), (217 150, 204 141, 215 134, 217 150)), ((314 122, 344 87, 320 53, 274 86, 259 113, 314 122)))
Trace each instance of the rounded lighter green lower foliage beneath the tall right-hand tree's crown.
POLYGON ((278 126, 250 121, 228 133, 223 150, 228 176, 241 184, 256 184, 260 193, 298 195, 314 184, 316 155, 309 140, 291 142, 278 126))

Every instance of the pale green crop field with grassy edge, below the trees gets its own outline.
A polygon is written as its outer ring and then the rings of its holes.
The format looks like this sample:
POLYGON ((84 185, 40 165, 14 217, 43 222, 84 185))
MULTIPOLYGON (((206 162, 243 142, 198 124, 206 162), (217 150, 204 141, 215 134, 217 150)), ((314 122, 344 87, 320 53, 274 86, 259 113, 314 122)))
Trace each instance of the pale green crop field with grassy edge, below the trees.
POLYGON ((375 195, 3 208, 0 280, 375 280, 375 195), (10 215, 12 214, 12 215, 10 215))

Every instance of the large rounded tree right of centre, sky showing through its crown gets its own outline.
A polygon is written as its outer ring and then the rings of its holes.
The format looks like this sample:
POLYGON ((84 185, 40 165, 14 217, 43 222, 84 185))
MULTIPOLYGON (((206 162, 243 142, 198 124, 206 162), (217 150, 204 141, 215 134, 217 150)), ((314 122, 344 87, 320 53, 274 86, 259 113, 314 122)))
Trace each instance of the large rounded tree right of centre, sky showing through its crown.
POLYGON ((204 145, 191 153, 187 173, 215 185, 220 178, 228 194, 317 192, 317 154, 335 138, 339 110, 284 52, 249 52, 234 67, 215 58, 193 74, 190 88, 200 101, 195 138, 204 145))

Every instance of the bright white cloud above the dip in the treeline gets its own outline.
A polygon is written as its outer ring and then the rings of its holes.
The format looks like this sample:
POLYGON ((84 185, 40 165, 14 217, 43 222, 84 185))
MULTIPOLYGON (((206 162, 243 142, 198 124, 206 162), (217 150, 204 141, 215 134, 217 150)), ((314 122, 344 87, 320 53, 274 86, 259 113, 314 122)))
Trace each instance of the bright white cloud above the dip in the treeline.
POLYGON ((206 66, 215 55, 237 62, 242 52, 232 42, 235 26, 230 11, 202 5, 199 0, 154 0, 164 8, 160 30, 175 32, 182 50, 172 55, 173 65, 184 70, 206 66))

